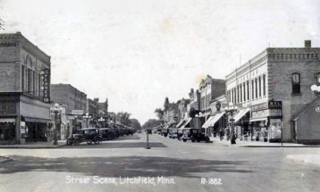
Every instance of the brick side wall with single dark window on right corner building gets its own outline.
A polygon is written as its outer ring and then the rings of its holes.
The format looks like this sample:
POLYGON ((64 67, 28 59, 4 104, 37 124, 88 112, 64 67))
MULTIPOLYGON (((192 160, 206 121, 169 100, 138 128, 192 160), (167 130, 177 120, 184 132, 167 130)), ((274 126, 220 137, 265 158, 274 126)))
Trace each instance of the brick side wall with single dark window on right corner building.
POLYGON ((315 98, 310 90, 316 83, 315 74, 320 72, 319 60, 268 61, 269 98, 282 100, 283 137, 291 141, 291 117, 315 98), (292 94, 292 74, 300 74, 301 94, 292 94))

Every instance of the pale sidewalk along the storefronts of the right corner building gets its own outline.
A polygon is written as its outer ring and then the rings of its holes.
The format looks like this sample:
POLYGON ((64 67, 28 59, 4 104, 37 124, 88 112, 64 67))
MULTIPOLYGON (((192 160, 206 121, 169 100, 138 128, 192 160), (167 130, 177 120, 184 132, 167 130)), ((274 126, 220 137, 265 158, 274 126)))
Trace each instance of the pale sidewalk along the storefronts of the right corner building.
MULTIPOLYGON (((235 146, 235 147, 246 147, 246 148, 281 148, 281 143, 269 143, 269 142, 260 142, 260 141, 240 141, 236 140, 236 144, 231 145, 230 140, 227 141, 223 139, 220 141, 218 137, 210 137, 213 143, 222 143, 226 146, 235 146)), ((320 148, 320 146, 306 146, 299 143, 283 143, 285 148, 320 148)))

